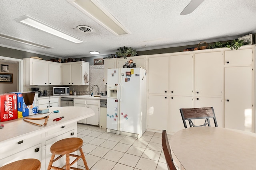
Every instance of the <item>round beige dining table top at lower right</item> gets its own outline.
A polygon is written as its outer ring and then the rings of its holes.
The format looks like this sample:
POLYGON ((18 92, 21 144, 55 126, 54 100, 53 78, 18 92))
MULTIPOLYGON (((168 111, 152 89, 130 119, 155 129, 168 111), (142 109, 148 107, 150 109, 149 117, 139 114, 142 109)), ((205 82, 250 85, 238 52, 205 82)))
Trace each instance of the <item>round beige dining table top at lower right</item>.
POLYGON ((179 170, 256 170, 256 134, 222 127, 190 127, 170 138, 179 170))

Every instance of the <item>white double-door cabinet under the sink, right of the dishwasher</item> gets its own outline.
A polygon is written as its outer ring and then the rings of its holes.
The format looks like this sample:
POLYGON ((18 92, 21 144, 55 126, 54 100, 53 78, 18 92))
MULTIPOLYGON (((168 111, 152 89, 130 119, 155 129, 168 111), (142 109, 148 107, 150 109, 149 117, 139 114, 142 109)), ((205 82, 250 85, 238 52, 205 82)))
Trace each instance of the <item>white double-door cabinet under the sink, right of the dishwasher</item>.
POLYGON ((82 119, 78 123, 90 124, 90 125, 100 125, 100 100, 98 99, 74 99, 74 106, 88 107, 92 109, 95 113, 94 116, 88 117, 87 119, 82 119))

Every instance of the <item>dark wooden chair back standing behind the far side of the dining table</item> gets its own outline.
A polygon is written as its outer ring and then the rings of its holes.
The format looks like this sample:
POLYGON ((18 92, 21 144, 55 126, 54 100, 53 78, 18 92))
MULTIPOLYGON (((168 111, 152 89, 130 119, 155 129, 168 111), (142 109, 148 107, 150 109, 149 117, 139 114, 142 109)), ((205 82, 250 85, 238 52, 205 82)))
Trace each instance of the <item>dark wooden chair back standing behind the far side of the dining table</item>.
POLYGON ((190 127, 211 126, 210 118, 214 120, 215 127, 218 127, 213 107, 180 109, 180 114, 185 128, 187 128, 186 120, 188 120, 190 127), (202 125, 194 125, 193 119, 205 119, 205 121, 202 125))

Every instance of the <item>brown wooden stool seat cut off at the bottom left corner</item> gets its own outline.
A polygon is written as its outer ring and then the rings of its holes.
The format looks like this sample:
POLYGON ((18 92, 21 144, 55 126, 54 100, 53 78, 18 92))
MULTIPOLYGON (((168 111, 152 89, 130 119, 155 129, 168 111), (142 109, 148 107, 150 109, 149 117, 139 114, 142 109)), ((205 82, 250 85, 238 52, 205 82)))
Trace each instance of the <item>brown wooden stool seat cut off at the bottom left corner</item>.
POLYGON ((22 159, 0 167, 0 170, 40 170, 41 162, 37 159, 22 159))

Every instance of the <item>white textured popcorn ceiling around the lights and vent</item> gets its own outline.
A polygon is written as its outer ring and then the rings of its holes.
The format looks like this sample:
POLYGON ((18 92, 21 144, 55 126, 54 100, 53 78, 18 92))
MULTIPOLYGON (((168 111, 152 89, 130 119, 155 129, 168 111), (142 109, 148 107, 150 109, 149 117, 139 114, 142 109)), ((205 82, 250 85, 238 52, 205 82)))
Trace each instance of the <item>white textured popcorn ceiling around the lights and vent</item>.
POLYGON ((137 51, 237 39, 256 32, 255 0, 204 0, 191 14, 180 12, 190 0, 97 0, 131 34, 116 36, 66 0, 0 0, 0 33, 53 47, 41 49, 0 38, 0 46, 52 57, 113 54, 119 47, 137 51), (85 41, 76 44, 18 23, 28 15, 85 41), (93 28, 82 33, 78 25, 93 28))

